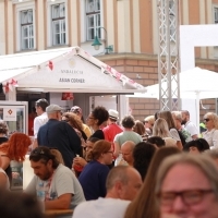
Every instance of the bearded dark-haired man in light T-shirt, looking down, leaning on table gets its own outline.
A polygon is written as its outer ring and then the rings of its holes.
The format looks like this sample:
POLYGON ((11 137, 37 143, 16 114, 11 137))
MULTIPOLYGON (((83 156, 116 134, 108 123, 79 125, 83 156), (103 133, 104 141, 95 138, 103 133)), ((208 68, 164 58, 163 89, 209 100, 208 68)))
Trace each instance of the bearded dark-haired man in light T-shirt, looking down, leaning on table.
POLYGON ((25 192, 36 195, 45 209, 73 209, 85 201, 82 186, 73 172, 59 164, 48 147, 35 148, 29 160, 35 177, 25 192))

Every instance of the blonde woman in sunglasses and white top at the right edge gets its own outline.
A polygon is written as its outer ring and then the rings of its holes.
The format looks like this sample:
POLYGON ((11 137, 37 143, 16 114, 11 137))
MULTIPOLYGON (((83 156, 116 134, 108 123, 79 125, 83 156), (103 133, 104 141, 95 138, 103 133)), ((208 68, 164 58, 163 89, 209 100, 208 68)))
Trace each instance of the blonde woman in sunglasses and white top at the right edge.
POLYGON ((203 138, 207 141, 210 148, 218 147, 218 116, 214 112, 207 112, 204 116, 206 132, 203 133, 203 138))

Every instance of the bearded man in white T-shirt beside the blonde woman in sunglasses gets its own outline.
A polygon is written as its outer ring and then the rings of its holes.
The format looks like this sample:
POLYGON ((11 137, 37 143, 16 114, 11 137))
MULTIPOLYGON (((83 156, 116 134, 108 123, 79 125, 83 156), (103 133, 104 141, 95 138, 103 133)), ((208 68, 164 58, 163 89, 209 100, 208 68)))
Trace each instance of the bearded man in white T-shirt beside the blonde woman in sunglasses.
POLYGON ((196 140, 197 136, 197 128, 196 125, 190 121, 190 112, 187 110, 182 110, 182 125, 184 129, 191 134, 192 140, 196 140))

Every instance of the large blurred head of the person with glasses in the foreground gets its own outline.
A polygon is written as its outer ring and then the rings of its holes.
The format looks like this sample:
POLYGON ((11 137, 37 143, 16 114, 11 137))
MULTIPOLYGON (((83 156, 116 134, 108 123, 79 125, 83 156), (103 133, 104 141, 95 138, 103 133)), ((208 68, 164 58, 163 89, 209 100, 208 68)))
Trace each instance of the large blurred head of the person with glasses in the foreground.
POLYGON ((218 217, 218 168, 210 157, 170 156, 159 167, 156 181, 159 217, 218 217))

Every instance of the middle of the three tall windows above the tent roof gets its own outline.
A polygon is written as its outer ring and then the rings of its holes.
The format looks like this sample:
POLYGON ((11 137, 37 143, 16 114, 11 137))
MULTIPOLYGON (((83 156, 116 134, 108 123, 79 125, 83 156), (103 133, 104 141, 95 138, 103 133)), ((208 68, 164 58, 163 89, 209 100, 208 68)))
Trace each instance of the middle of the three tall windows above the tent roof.
POLYGON ((65 45, 65 4, 51 5, 52 45, 65 45))

